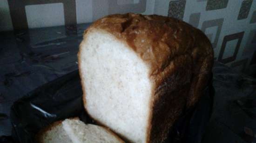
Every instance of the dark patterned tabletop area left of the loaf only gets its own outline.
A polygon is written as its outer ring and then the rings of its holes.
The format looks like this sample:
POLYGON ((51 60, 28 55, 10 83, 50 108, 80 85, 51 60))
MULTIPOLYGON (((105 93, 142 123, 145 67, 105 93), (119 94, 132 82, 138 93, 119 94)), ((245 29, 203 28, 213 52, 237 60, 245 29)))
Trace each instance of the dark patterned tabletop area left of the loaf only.
MULTIPOLYGON (((9 116, 13 101, 77 69, 78 46, 89 25, 1 32, 0 113, 9 116)), ((0 136, 10 134, 9 118, 0 119, 0 136)))

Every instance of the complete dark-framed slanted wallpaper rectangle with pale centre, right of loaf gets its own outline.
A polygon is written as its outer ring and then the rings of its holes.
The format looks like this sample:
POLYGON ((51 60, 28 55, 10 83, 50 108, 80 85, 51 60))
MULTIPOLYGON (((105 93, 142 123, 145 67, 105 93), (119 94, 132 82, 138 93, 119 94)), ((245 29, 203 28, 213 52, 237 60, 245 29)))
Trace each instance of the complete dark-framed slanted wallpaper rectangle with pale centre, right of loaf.
POLYGON ((243 39, 243 34, 244 32, 239 32, 239 33, 227 35, 223 38, 221 50, 218 57, 219 62, 228 63, 236 60, 236 56, 240 48, 241 41, 243 39), (230 56, 230 54, 224 55, 224 53, 229 53, 232 51, 233 51, 232 56, 230 56))

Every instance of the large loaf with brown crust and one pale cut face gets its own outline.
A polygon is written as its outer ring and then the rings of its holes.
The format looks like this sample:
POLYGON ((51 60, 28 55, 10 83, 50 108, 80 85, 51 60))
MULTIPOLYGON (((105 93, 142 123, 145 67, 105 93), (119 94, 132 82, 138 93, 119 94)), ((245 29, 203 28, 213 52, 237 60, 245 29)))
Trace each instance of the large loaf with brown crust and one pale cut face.
POLYGON ((213 49, 181 20, 115 14, 84 32, 78 63, 91 118, 128 142, 162 143, 202 96, 213 49))

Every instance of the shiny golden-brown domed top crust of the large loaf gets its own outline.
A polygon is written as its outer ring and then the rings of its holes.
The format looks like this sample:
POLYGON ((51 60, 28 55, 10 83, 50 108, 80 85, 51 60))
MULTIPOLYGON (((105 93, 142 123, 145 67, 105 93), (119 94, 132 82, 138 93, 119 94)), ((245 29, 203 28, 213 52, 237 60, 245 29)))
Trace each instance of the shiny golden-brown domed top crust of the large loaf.
MULTIPOLYGON (((126 42, 158 75, 175 56, 213 58, 213 50, 202 31, 174 18, 134 13, 114 14, 95 21, 92 28, 106 30, 126 42)), ((86 32, 87 32, 86 31, 86 32)), ((85 34, 86 34, 85 32, 85 34)))

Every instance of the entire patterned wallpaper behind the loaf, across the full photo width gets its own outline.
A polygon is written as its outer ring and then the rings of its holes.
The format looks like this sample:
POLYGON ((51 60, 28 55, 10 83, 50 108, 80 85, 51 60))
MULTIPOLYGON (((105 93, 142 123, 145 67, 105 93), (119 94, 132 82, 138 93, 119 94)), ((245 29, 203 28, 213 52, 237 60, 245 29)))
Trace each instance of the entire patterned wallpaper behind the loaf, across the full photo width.
POLYGON ((0 0, 0 31, 69 26, 126 12, 182 19, 209 37, 217 61, 256 76, 256 0, 0 0))

